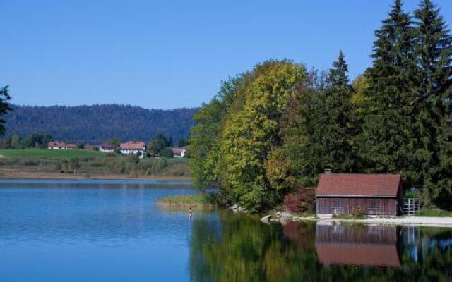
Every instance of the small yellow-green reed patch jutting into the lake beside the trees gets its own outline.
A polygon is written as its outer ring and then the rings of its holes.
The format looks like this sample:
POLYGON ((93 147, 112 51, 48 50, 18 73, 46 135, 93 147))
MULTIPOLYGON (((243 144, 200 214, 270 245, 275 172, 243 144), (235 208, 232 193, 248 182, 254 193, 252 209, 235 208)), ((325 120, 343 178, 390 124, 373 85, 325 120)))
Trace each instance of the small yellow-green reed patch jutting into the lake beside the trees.
POLYGON ((158 200, 161 207, 205 209, 217 205, 217 195, 213 193, 200 192, 196 195, 179 195, 162 197, 158 200))

